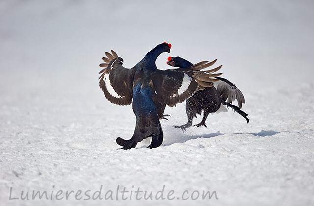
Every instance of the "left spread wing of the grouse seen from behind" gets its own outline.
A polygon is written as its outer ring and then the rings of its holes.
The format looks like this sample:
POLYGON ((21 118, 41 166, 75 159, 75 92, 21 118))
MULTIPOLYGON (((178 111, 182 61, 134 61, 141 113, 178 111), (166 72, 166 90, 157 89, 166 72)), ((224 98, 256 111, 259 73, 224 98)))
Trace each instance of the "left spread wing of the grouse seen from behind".
POLYGON ((105 63, 100 67, 105 67, 99 73, 99 86, 103 90, 105 97, 114 104, 128 105, 132 103, 134 69, 127 69, 122 66, 123 59, 111 50, 105 52, 107 57, 103 57, 105 63), (111 54, 112 53, 112 54, 111 54))

